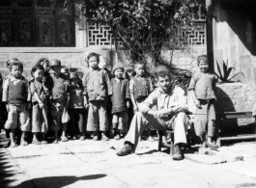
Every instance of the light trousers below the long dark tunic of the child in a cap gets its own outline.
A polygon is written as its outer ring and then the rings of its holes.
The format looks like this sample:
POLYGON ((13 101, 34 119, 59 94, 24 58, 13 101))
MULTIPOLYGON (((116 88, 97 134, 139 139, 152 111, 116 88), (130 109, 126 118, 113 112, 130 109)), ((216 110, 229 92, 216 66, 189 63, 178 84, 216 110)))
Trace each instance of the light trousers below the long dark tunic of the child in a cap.
POLYGON ((123 130, 125 133, 127 133, 128 132, 127 111, 113 114, 112 123, 113 123, 113 128, 117 128, 116 125, 118 124, 118 129, 123 130))

